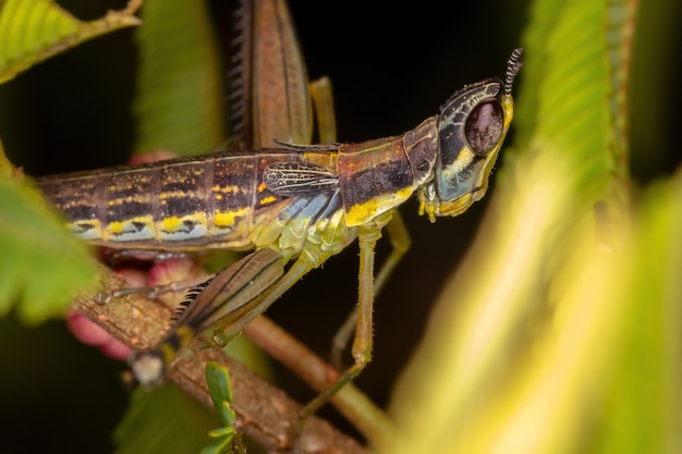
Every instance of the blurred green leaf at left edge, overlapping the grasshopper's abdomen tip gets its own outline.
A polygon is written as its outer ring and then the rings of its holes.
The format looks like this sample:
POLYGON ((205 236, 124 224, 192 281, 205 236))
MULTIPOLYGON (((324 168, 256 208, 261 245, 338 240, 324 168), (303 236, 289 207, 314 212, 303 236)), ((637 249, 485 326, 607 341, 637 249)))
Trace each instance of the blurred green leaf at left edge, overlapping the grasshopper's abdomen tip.
POLYGON ((96 283, 86 246, 35 189, 9 179, 0 179, 0 315, 19 304, 28 323, 61 316, 74 292, 96 283))

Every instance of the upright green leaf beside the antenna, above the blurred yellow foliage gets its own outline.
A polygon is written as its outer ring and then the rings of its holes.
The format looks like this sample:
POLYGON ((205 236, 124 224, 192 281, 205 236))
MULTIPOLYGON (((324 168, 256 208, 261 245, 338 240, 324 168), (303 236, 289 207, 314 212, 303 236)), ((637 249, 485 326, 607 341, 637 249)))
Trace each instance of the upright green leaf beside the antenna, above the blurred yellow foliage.
POLYGON ((535 1, 525 34, 516 144, 568 158, 577 209, 608 196, 614 174, 628 177, 614 169, 609 3, 535 1))

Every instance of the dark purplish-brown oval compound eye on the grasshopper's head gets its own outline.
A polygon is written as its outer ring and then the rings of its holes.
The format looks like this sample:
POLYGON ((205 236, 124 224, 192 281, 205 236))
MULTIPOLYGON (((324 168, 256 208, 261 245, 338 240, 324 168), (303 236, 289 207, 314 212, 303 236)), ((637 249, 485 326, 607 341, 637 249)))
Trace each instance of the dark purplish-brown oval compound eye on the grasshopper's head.
POLYGON ((504 112, 497 100, 482 102, 472 110, 464 125, 464 137, 478 156, 492 151, 502 138, 504 112))

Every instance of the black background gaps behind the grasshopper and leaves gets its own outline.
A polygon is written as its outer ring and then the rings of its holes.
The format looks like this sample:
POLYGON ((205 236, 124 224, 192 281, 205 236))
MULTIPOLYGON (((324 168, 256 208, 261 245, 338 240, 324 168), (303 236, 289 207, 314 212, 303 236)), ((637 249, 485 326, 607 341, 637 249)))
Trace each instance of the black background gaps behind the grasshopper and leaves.
MULTIPOLYGON (((60 1, 80 19, 124 3, 60 1)), ((226 2, 210 3, 216 27, 228 32, 226 2)), ((462 85, 503 75, 510 51, 521 45, 528 1, 466 3, 291 2, 310 78, 332 78, 341 142, 403 133, 437 113, 462 85)), ((642 14, 643 22, 656 17, 642 14)), ((679 38, 645 36, 641 46, 666 42, 672 50, 679 38)), ((633 79, 633 168, 640 182, 670 173, 681 156, 673 135, 679 62, 657 52, 646 52, 646 59, 648 66, 633 79)), ((120 30, 0 86, 0 137, 10 159, 32 175, 125 162, 134 140, 135 64, 132 30, 120 30)), ((435 224, 416 210, 414 200, 402 209, 413 247, 377 300, 374 360, 357 380, 380 405, 418 342, 429 305, 466 251, 485 200, 465 216, 435 224)), ((379 257, 387 251, 381 247, 379 257)), ((351 246, 307 275, 268 315, 326 355, 330 333, 354 307, 356 292, 357 247, 351 246)), ((109 452, 110 432, 127 400, 119 380, 123 370, 81 345, 61 321, 29 329, 13 317, 1 319, 2 445, 14 445, 12 452, 109 452)), ((296 381, 287 386, 299 398, 310 396, 296 381)))

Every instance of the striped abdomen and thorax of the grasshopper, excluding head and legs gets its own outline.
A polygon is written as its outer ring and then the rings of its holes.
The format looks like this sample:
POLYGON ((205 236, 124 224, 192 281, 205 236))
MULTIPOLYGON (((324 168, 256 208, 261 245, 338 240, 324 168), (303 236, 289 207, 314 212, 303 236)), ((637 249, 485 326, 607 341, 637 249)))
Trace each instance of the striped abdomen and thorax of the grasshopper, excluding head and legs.
POLYGON ((310 242, 321 249, 316 255, 337 254, 355 238, 355 225, 417 186, 403 136, 375 147, 221 151, 38 184, 66 213, 69 229, 92 244, 179 251, 269 246, 288 260, 310 242))

